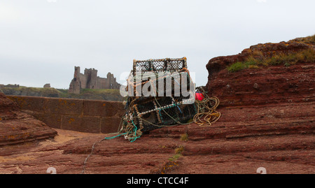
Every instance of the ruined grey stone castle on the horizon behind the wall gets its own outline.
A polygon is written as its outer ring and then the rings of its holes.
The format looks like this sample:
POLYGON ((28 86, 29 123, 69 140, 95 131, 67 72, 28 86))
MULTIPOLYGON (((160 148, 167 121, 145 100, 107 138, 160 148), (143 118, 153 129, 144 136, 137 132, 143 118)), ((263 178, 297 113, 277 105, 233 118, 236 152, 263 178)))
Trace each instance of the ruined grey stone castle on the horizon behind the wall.
POLYGON ((80 94, 80 89, 120 89, 120 84, 112 73, 107 73, 107 78, 100 78, 94 68, 85 68, 83 74, 80 73, 80 66, 74 66, 69 93, 80 94))

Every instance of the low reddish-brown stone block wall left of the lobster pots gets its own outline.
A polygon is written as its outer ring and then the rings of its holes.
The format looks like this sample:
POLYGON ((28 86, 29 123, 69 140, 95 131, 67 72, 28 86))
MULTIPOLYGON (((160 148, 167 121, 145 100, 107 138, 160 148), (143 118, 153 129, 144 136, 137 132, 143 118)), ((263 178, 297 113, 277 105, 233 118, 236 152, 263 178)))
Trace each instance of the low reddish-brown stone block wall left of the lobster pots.
POLYGON ((116 133, 124 106, 119 101, 7 96, 21 110, 56 129, 89 133, 116 133))

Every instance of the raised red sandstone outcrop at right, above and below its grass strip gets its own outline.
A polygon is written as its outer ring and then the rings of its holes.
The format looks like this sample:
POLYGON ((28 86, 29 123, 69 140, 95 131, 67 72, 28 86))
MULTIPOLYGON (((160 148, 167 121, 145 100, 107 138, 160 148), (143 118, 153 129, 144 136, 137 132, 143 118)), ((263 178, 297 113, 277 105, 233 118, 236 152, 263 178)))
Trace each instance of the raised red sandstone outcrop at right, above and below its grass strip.
POLYGON ((314 101, 314 61, 297 62, 288 67, 279 65, 247 68, 236 73, 228 73, 227 70, 230 64, 242 62, 250 55, 272 57, 305 49, 314 49, 314 45, 292 40, 288 43, 253 45, 239 55, 210 59, 207 64, 209 95, 217 96, 221 106, 314 101))

